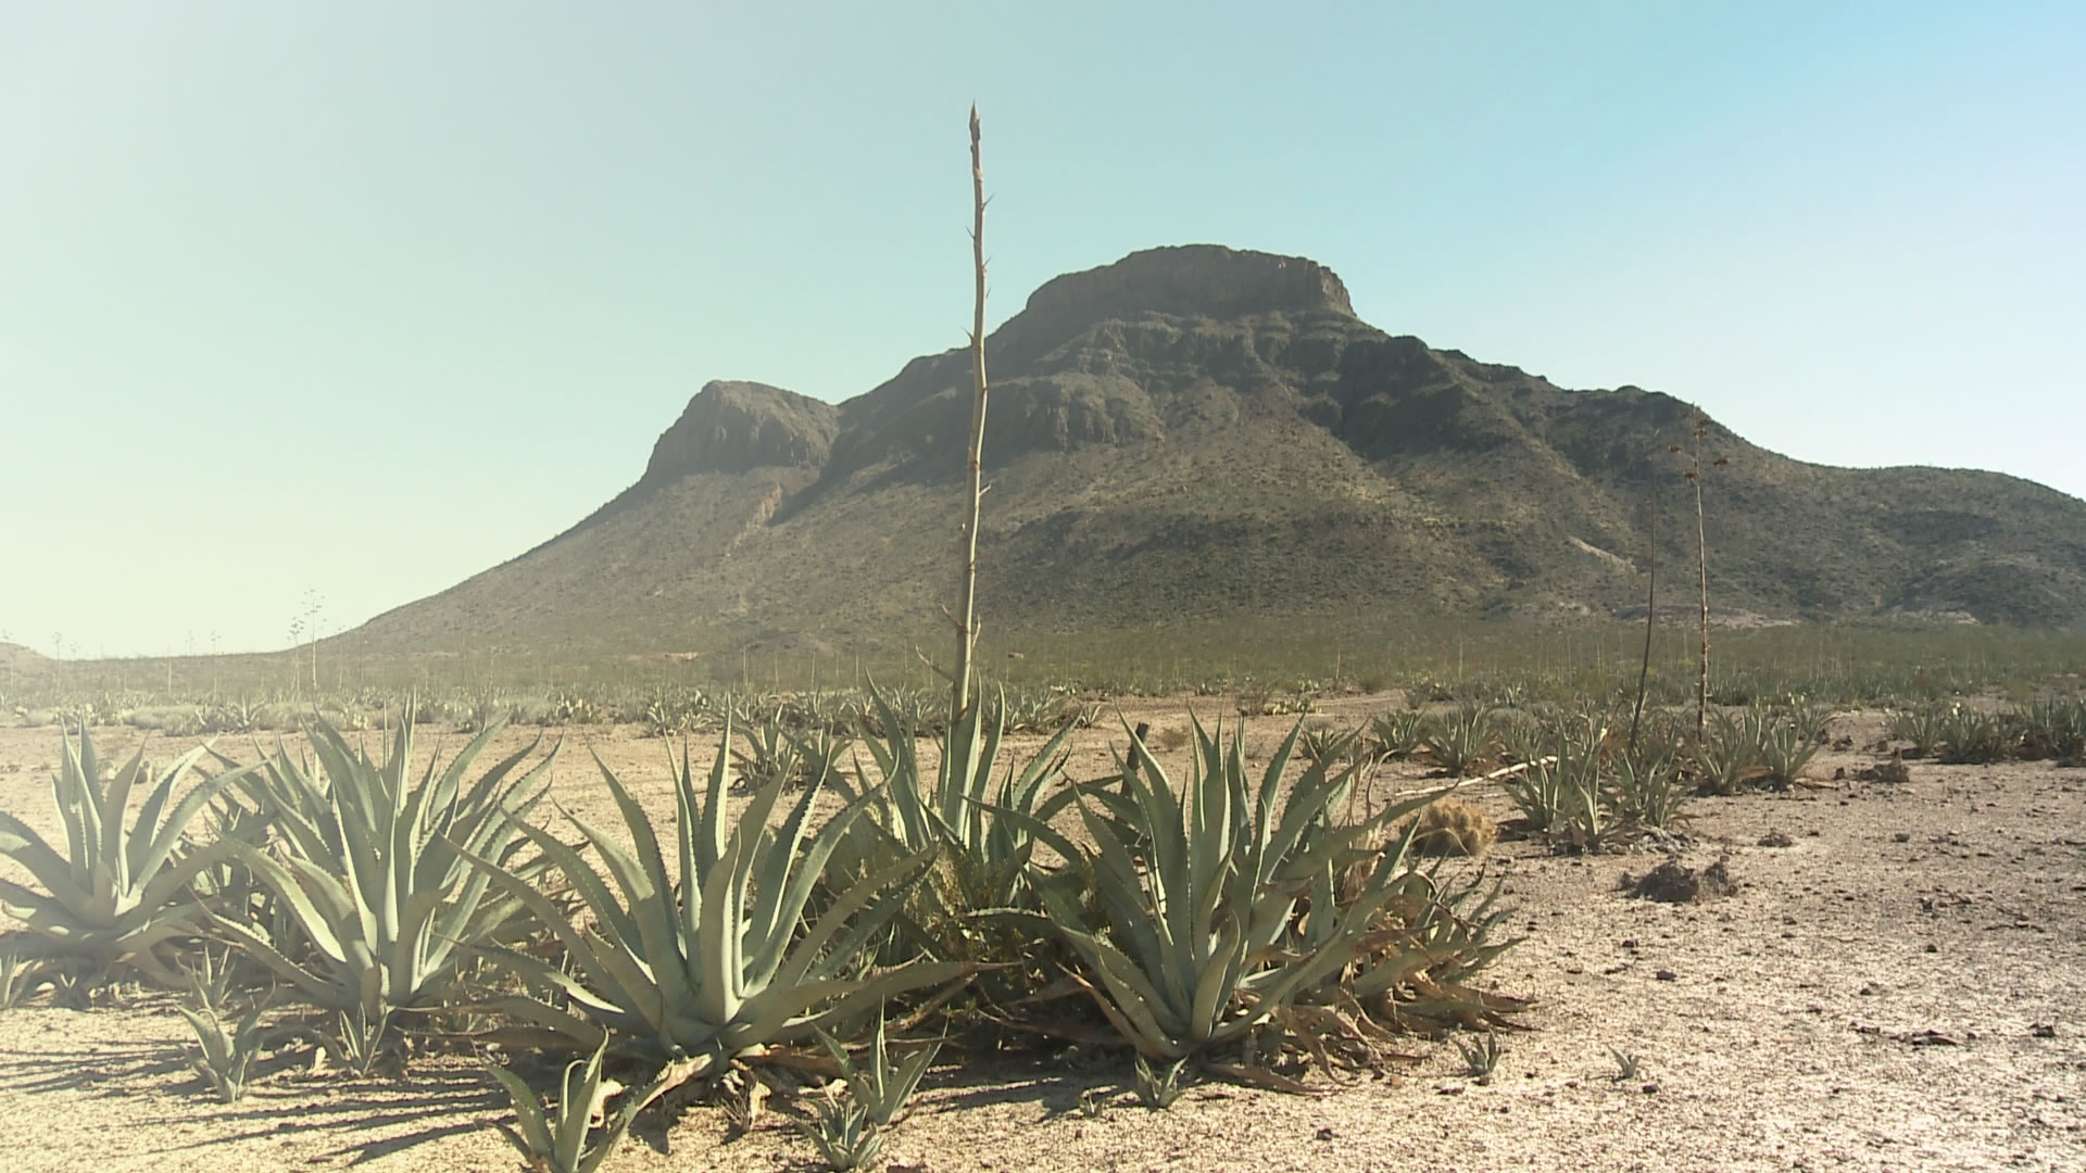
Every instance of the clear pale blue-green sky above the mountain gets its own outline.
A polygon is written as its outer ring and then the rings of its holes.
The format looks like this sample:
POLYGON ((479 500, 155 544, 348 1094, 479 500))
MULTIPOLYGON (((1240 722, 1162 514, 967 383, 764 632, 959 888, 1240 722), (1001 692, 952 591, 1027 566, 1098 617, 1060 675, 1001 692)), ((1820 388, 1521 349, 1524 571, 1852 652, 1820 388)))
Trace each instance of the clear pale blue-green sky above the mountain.
MULTIPOLYGON (((2086 4, 0 6, 0 639, 259 651, 1156 244, 2086 497, 2086 4)), ((989 459, 989 457, 987 457, 989 459)))

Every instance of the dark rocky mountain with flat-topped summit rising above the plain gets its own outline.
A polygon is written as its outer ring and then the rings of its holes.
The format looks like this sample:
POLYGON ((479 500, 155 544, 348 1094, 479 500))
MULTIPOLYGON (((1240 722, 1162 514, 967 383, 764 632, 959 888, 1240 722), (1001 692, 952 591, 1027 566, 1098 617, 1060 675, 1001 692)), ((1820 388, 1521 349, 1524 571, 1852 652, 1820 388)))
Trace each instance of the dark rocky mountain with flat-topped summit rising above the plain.
MULTIPOLYGON (((1300 257, 1135 253, 987 340, 980 614, 997 635, 1162 620, 1625 614, 1694 570, 1702 413, 1391 336, 1300 257), (1681 572, 1685 568, 1685 574, 1681 572)), ((645 474, 365 647, 912 647, 953 601, 970 353, 828 405, 713 382, 645 474)), ((1990 472, 1794 461, 1704 422, 1711 584, 1771 620, 2086 624, 2086 503, 1990 472)), ((1675 595, 1669 595, 1673 599, 1675 595)))

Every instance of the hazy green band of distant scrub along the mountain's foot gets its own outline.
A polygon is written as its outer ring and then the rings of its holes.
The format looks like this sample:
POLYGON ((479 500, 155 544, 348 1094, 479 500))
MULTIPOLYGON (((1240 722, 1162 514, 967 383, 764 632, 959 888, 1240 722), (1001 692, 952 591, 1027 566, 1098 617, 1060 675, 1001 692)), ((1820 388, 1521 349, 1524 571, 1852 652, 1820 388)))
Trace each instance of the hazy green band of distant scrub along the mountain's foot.
MULTIPOLYGON (((1519 622, 1398 622, 1327 616, 1266 624, 1177 624, 1143 632, 983 641, 989 687, 1091 699, 1135 695, 1331 695, 1406 689, 1435 699, 1514 691, 1556 701, 1635 687, 1642 622, 1533 626, 1519 622), (1012 655, 1010 655, 1012 651, 1012 655)), ((415 691, 436 720, 484 708, 532 724, 642 720, 661 691, 834 693, 876 680, 945 687, 914 655, 851 655, 845 647, 778 643, 741 655, 517 655, 474 651, 357 655, 321 643, 319 693, 305 651, 273 655, 44 662, 35 674, 0 670, 0 722, 138 724, 179 728, 184 712, 217 710, 236 724, 286 724, 323 710, 342 718, 371 697, 415 691)), ((1652 699, 1681 703, 1694 689, 1694 632, 1660 624, 1652 699)), ((1771 626, 1725 630, 1711 699, 1748 703, 1806 697, 1834 705, 1894 705, 1984 693, 2028 699, 2086 672, 2086 635, 1990 626, 1771 626)))

